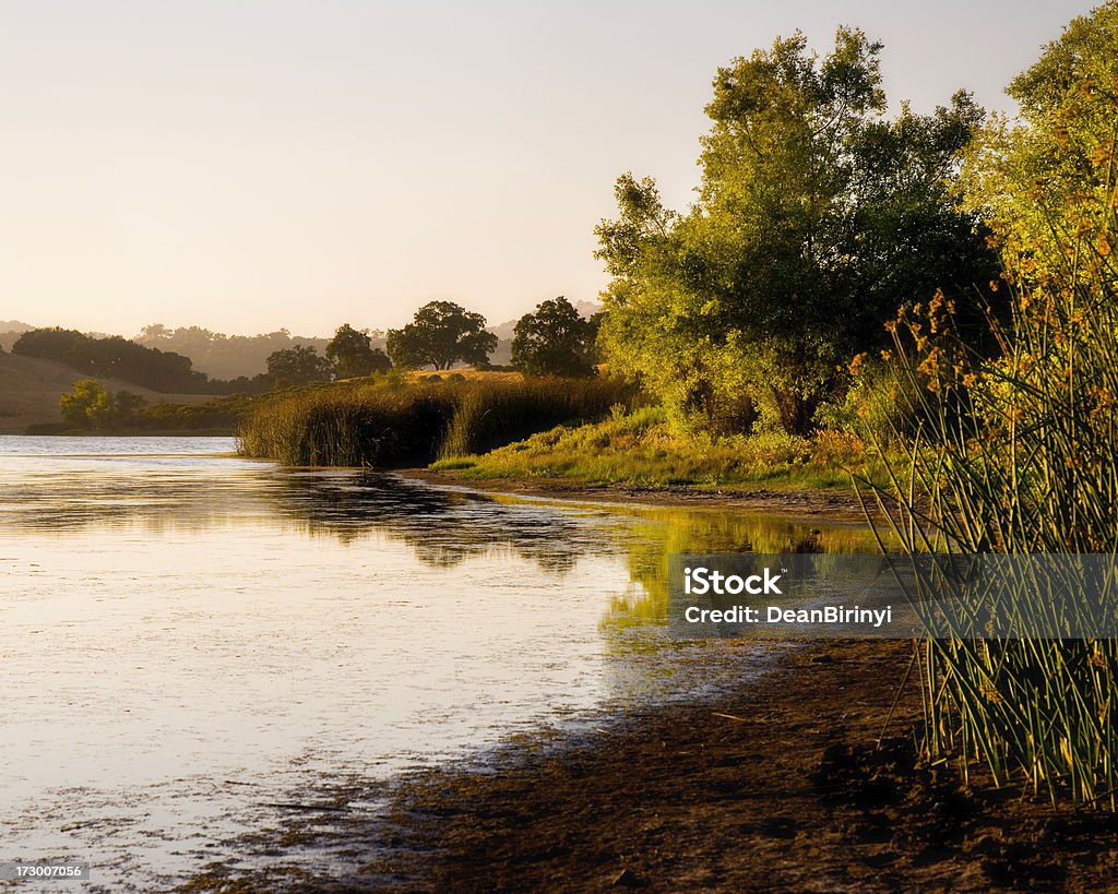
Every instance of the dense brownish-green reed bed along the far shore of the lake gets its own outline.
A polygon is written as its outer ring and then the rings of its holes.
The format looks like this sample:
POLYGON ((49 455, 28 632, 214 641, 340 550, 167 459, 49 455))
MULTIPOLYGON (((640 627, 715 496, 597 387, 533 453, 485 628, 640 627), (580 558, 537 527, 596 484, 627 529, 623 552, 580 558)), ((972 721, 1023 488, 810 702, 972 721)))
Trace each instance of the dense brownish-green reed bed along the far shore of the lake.
POLYGON ((285 465, 383 468, 487 450, 632 399, 610 379, 321 388, 269 401, 239 435, 245 455, 285 465))

